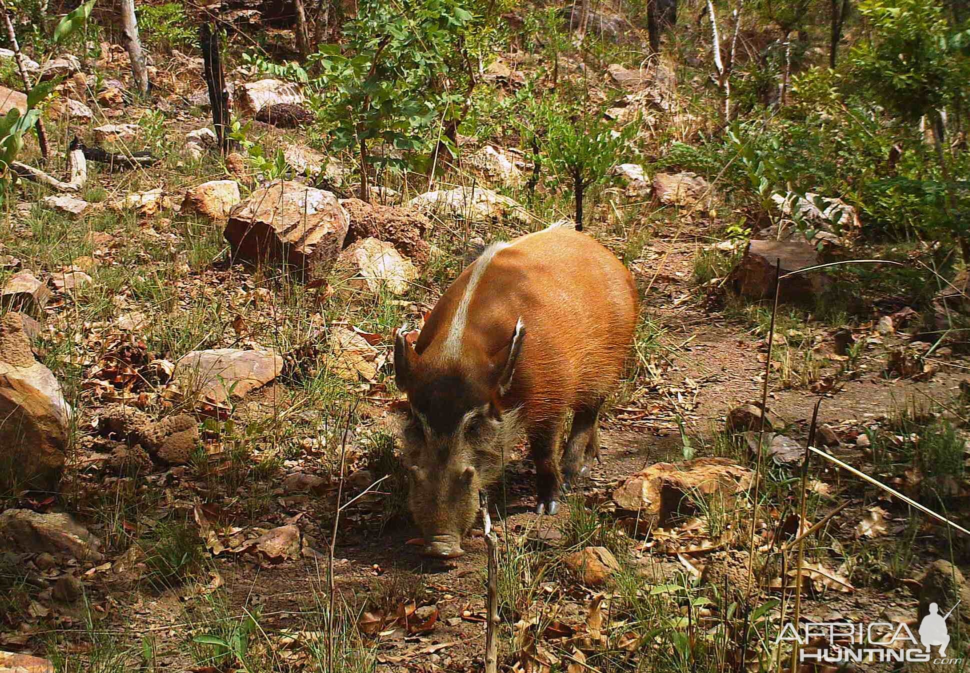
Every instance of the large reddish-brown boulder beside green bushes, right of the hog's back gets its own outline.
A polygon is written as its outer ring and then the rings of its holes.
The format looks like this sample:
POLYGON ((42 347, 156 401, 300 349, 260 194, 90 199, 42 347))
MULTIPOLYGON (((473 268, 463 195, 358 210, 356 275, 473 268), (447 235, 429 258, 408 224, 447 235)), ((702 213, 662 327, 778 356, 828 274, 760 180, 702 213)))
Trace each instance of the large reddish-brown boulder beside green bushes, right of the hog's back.
MULTIPOLYGON (((818 252, 807 243, 752 240, 728 277, 734 291, 751 299, 774 297, 776 259, 781 260, 782 275, 820 263, 818 252)), ((779 301, 814 301, 829 284, 823 272, 786 278, 779 286, 779 301)))

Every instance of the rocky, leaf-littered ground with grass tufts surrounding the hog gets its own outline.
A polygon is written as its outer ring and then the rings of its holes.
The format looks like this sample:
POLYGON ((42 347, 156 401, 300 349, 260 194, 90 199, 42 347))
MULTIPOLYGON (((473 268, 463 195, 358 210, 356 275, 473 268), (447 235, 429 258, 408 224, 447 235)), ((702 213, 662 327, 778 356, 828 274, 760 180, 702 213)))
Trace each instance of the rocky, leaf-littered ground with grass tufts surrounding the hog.
MULTIPOLYGON (((222 157, 208 110, 185 104, 201 59, 156 64, 146 106, 121 95, 123 50, 101 52, 62 64, 56 137, 159 161, 113 172, 81 151, 80 188, 27 184, 9 201, 0 670, 480 670, 485 540, 449 561, 417 554, 388 421, 392 334, 419 329, 484 243, 567 208, 522 205, 524 155, 474 139, 437 185, 352 198, 352 171, 303 137, 299 87, 244 69, 239 114, 284 168, 251 160, 249 139, 222 157)), ((514 55, 491 84, 514 87, 514 55)), ((660 75, 611 64, 597 82, 616 115, 656 114, 660 75)), ((792 542, 816 523, 803 619, 915 629, 930 602, 949 610, 970 590, 968 538, 818 455, 802 520, 798 476, 821 401, 816 446, 966 524, 970 365, 924 334, 962 303, 941 291, 920 313, 876 284, 805 309, 841 279, 794 276, 769 352, 775 260, 786 273, 848 258, 857 232, 776 194, 774 228, 739 244, 717 181, 616 172, 587 229, 641 290, 635 353, 602 460, 563 512, 532 513, 522 447, 491 491, 502 666, 634 670, 676 658, 688 633, 722 670, 767 666, 792 612, 792 542), (793 210, 818 218, 812 245, 785 229, 793 210), (757 637, 739 615, 758 615, 757 637)))

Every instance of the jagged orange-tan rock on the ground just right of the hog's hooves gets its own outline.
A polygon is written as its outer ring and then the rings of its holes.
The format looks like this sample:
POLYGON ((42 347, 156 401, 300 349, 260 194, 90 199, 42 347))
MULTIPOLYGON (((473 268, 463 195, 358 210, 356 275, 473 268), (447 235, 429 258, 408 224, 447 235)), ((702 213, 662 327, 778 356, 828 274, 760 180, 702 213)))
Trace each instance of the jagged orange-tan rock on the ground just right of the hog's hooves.
POLYGON ((754 473, 728 458, 659 462, 629 477, 613 491, 617 507, 663 523, 690 498, 717 496, 727 508, 735 493, 751 485, 754 473), (682 502, 684 501, 684 502, 682 502))

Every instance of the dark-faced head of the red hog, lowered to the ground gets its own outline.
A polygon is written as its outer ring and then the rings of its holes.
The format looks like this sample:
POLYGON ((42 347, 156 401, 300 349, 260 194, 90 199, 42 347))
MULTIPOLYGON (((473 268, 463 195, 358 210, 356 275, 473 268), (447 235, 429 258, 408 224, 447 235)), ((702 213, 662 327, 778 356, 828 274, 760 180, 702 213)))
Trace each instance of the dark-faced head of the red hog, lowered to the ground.
POLYGON ((519 413, 502 412, 525 330, 516 325, 501 365, 469 366, 468 360, 438 366, 423 362, 399 336, 395 376, 407 393, 403 410, 408 504, 424 534, 424 555, 465 554, 462 540, 479 511, 479 491, 501 474, 503 451, 514 445, 519 413))

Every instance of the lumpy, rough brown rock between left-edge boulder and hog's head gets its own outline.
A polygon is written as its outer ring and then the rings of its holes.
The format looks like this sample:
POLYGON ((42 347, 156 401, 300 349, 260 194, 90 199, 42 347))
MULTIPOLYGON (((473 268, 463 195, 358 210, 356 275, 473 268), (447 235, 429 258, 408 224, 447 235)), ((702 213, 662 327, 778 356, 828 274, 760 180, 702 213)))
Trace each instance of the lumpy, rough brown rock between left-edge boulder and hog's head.
POLYGON ((150 468, 142 457, 147 452, 165 465, 184 465, 199 446, 199 425, 188 414, 155 421, 145 412, 122 404, 110 404, 98 416, 98 430, 125 442, 132 451, 113 455, 113 462, 150 468), (137 449, 142 448, 142 449, 137 449))

